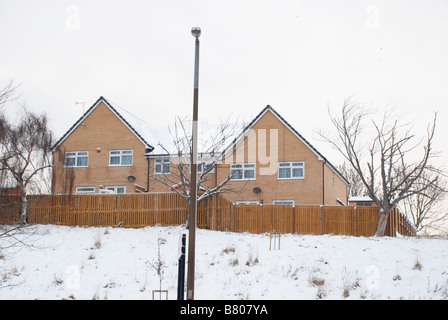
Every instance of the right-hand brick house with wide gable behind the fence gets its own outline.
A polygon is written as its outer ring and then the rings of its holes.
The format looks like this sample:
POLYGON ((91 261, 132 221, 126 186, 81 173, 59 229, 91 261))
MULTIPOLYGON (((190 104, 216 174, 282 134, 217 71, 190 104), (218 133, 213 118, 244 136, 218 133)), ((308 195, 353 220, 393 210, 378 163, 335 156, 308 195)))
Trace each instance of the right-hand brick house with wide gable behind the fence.
POLYGON ((227 165, 218 168, 217 180, 230 171, 229 184, 240 192, 226 197, 236 203, 347 203, 348 181, 269 105, 225 153, 227 165))

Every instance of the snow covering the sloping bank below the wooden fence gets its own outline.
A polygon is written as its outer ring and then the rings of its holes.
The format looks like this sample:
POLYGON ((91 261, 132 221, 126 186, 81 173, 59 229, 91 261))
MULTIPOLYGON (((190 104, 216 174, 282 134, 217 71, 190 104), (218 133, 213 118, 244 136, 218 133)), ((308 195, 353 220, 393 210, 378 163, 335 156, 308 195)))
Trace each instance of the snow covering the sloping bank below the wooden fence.
MULTIPOLYGON (((158 243, 162 290, 176 299, 182 233, 29 226, 0 238, 0 299, 150 300, 158 243)), ((445 238, 289 234, 279 248, 269 234, 199 229, 196 241, 198 300, 448 299, 445 238)))

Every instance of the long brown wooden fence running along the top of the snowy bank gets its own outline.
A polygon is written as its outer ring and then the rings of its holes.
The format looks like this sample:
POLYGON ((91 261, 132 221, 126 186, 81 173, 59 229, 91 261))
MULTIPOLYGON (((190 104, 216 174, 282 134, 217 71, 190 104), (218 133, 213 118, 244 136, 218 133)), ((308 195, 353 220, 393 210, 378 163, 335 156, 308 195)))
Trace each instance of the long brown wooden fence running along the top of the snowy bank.
MULTIPOLYGON (((0 197, 0 224, 19 221, 17 196, 0 197)), ((140 228, 186 223, 185 200, 175 193, 123 195, 30 195, 28 223, 65 226, 140 228)), ((198 207, 199 228, 219 231, 373 236, 377 207, 236 205, 223 197, 207 198, 198 207)), ((389 215, 386 235, 415 235, 397 209, 389 215)))

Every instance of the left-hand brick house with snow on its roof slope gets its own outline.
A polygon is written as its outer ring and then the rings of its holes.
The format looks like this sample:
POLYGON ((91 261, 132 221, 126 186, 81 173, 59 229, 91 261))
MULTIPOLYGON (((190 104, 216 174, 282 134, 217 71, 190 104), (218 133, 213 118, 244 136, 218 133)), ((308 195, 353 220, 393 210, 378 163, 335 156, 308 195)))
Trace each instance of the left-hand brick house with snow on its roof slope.
POLYGON ((54 194, 134 193, 147 189, 154 147, 150 127, 100 97, 54 144, 54 194))

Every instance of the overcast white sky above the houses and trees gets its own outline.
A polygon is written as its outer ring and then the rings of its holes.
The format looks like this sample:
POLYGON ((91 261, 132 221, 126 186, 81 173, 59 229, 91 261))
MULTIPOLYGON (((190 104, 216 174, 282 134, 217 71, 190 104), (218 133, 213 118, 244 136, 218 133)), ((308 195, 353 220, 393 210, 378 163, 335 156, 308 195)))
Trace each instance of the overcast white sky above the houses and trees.
POLYGON ((0 0, 0 85, 22 83, 57 138, 82 115, 75 102, 100 96, 167 126, 192 111, 193 26, 200 118, 251 120, 270 104, 337 164, 314 131, 353 96, 408 113, 420 136, 438 111, 448 159, 444 0, 0 0))

